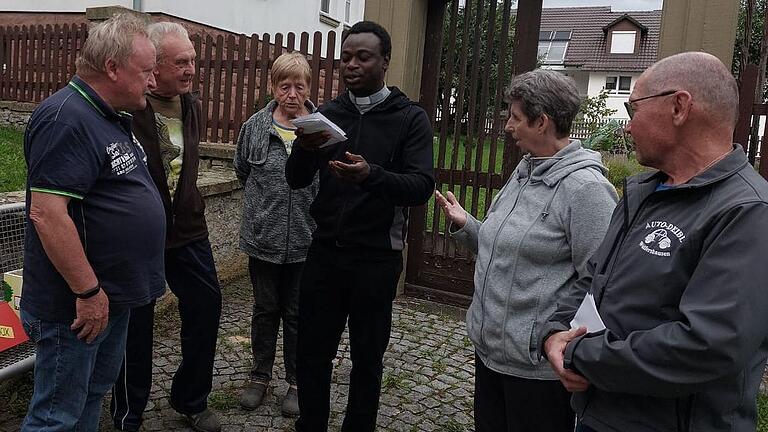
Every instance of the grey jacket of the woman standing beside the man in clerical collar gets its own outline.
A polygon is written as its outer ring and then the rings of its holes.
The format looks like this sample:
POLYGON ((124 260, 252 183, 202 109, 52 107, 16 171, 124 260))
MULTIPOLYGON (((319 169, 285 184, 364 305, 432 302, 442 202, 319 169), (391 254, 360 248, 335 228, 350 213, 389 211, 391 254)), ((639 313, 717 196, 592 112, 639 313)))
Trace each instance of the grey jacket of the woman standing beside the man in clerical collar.
MULTIPOLYGON (((315 107, 306 102, 309 112, 315 107)), ((272 101, 252 115, 240 129, 235 172, 245 185, 240 248, 253 258, 275 264, 306 259, 315 222, 309 206, 315 199, 318 177, 291 190, 285 181, 288 152, 272 123, 272 101)))

